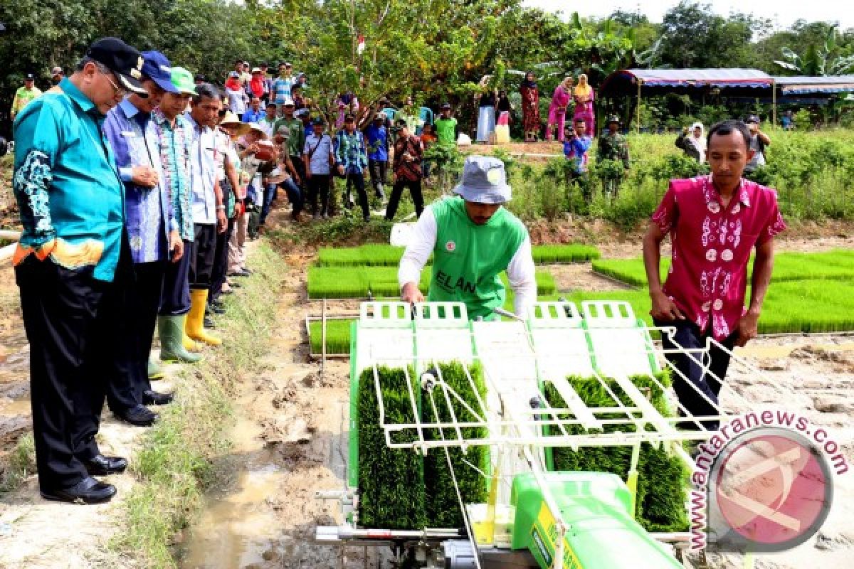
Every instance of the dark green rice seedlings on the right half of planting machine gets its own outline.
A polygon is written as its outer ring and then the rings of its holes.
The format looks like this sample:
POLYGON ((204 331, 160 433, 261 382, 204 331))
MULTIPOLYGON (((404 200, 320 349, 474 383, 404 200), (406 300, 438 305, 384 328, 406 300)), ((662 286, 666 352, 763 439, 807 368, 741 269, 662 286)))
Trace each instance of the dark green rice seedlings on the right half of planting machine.
MULTIPOLYGON (((666 373, 658 374, 657 379, 664 386, 670 385, 666 373)), ((652 405, 659 413, 671 416, 666 395, 652 378, 638 375, 629 378, 641 392, 647 392, 652 405)), ((588 407, 615 407, 617 402, 611 398, 610 390, 620 403, 634 406, 631 399, 617 381, 597 378, 567 378, 573 389, 588 407), (607 386, 607 388, 605 387, 607 386)), ((559 392, 551 383, 543 390, 548 404, 558 409, 567 407, 559 392)), ((562 415, 570 418, 571 415, 562 415)), ((624 419, 625 413, 606 413, 597 415, 601 419, 624 419)), ((585 433, 583 427, 573 425, 567 428, 570 434, 585 433)), ((634 426, 605 425, 605 433, 618 431, 634 432, 634 426)), ((567 447, 554 448, 553 459, 555 470, 559 471, 592 471, 609 472, 625 479, 629 474, 632 448, 617 447, 582 447, 571 450, 567 447)), ((685 510, 687 472, 677 456, 670 456, 664 448, 655 449, 650 444, 641 444, 638 461, 638 486, 635 518, 646 531, 685 531, 687 529, 687 514, 685 510)))

